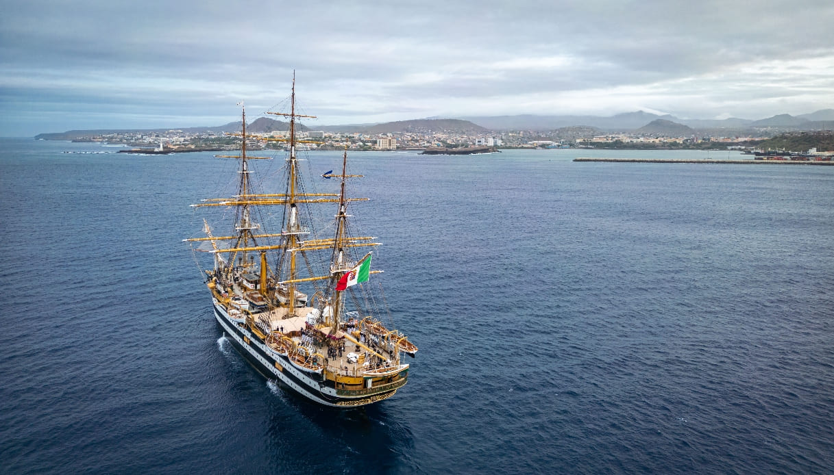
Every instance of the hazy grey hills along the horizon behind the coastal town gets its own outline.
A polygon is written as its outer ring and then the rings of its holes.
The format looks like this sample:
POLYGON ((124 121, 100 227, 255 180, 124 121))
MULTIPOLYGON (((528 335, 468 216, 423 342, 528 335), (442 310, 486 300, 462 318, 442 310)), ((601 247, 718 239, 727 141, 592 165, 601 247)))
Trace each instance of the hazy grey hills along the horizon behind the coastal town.
MULTIPOLYGON (((487 134, 502 131, 554 131, 564 128, 585 128, 599 129, 602 132, 627 132, 637 131, 647 127, 651 122, 661 120, 664 128, 672 127, 671 124, 681 125, 688 129, 697 129, 701 133, 705 130, 720 133, 724 131, 741 132, 743 130, 781 128, 788 130, 831 130, 834 129, 834 109, 822 109, 808 114, 791 116, 779 114, 761 120, 750 120, 738 117, 726 119, 681 119, 670 114, 657 115, 651 112, 637 111, 617 114, 611 117, 599 116, 538 116, 538 115, 517 115, 517 116, 489 116, 489 117, 465 117, 456 119, 426 118, 398 122, 385 122, 378 124, 352 124, 335 126, 305 126, 299 123, 300 131, 324 131, 341 133, 465 133, 470 135, 487 134), (666 123, 669 122, 669 123, 666 123)), ((653 127, 657 127, 655 124, 653 127)), ((265 133, 274 131, 286 131, 289 129, 289 122, 274 120, 269 117, 259 117, 247 126, 247 130, 253 133, 265 133)), ((130 129, 98 129, 98 130, 71 130, 64 133, 41 133, 35 138, 50 140, 73 140, 75 138, 89 137, 107 133, 162 133, 172 130, 171 128, 144 129, 141 131, 130 129)), ((229 133, 239 132, 240 122, 229 122, 216 127, 189 127, 178 128, 183 133, 229 133)), ((686 129, 681 129, 686 131, 686 129)), ((645 131, 644 131, 645 132, 645 131)))

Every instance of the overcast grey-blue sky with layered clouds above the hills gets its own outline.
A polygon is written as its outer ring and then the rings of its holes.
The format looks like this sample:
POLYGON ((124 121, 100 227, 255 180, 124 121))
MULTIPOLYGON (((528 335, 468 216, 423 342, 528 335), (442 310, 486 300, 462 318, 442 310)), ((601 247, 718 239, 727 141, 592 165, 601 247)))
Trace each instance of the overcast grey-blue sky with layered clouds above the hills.
POLYGON ((0 0, 0 136, 834 107, 834 2, 0 0))

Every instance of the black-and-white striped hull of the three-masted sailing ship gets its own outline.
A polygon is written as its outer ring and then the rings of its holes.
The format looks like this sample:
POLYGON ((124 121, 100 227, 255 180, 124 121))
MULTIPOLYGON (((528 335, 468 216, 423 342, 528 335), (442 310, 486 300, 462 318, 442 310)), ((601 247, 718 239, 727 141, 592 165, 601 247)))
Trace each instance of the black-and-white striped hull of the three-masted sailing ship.
POLYGON ((294 393, 304 398, 333 408, 355 408, 390 398, 397 388, 404 385, 405 379, 388 391, 345 396, 344 391, 329 388, 320 373, 303 371, 284 355, 275 353, 260 338, 246 328, 243 323, 236 323, 229 318, 224 307, 214 301, 214 318, 223 329, 234 348, 238 350, 255 368, 267 378, 276 378, 294 393), (339 394, 342 393, 342 394, 339 394))

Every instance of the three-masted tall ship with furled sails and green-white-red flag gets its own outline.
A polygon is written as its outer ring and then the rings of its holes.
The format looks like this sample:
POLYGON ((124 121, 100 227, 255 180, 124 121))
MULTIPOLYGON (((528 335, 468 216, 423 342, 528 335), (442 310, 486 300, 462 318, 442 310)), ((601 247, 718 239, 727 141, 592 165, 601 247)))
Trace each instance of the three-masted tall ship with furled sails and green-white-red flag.
MULTIPOLYGON (((409 364, 417 347, 393 328, 381 286, 374 286, 373 249, 381 243, 355 236, 346 183, 361 175, 348 174, 345 152, 339 173, 323 178, 340 181, 339 193, 308 193, 296 152, 297 121, 314 117, 296 113, 293 77, 289 112, 267 112, 289 119, 289 137, 259 138, 243 132, 237 192, 208 198, 194 208, 224 215, 228 235, 215 235, 203 219, 204 236, 189 238, 211 295, 214 318, 239 353, 281 388, 334 408, 354 408, 394 396, 408 381, 409 364), (287 142, 279 191, 263 193, 254 183, 253 163, 269 157, 247 155, 247 140, 287 142), (282 189, 283 188, 283 189, 282 189), (314 226, 315 209, 329 209, 329 225, 314 226), (268 229, 269 217, 275 228, 268 229), (208 259, 205 259, 208 261, 208 259)), ((321 211, 320 213, 326 213, 321 211)))

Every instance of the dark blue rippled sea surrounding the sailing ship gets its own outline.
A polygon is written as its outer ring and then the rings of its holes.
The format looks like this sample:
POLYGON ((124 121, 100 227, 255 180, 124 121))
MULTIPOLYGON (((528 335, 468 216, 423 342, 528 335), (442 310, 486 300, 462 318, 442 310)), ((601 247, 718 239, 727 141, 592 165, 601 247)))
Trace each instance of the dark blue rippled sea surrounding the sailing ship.
POLYGON ((351 153, 420 352, 334 412, 235 352, 181 242, 237 163, 116 150, 0 140, 0 472, 834 473, 834 168, 351 153))

